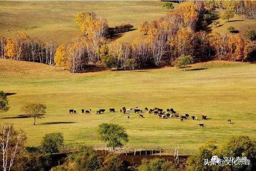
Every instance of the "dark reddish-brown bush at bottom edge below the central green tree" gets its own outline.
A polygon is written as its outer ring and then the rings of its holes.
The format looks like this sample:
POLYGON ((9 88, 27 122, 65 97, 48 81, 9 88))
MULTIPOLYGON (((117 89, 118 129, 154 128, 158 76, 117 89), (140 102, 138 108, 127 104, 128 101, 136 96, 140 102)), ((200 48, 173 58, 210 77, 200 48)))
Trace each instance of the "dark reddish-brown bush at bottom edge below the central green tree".
POLYGON ((99 171, 124 171, 124 164, 116 154, 108 155, 99 171))

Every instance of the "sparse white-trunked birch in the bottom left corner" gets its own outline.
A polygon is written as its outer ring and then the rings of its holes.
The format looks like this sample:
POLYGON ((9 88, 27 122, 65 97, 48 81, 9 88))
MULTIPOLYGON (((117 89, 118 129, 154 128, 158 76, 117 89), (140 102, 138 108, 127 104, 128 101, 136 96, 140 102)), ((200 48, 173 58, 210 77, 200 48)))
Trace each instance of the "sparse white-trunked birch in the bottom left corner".
POLYGON ((26 135, 22 130, 15 131, 14 127, 8 123, 0 125, 0 158, 2 161, 0 165, 3 171, 12 170, 11 167, 17 161, 17 155, 24 149, 25 140, 26 135))

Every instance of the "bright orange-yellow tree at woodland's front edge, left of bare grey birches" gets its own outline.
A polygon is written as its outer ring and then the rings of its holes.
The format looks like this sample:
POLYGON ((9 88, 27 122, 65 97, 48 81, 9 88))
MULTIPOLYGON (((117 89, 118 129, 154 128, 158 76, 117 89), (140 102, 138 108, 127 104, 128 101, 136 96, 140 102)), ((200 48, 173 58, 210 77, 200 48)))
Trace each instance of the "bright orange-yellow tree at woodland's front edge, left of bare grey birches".
POLYGON ((56 66, 62 67, 63 70, 69 70, 70 64, 67 56, 67 47, 62 44, 56 49, 56 53, 54 55, 54 62, 56 66))

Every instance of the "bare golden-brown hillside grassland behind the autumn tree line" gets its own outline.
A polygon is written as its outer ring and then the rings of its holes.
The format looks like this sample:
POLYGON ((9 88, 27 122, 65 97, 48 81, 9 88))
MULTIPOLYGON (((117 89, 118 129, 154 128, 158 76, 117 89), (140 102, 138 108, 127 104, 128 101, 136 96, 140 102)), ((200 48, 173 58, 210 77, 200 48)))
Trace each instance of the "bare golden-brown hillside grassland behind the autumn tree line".
MULTIPOLYGON (((74 22, 74 16, 78 12, 95 12, 104 16, 110 27, 130 23, 134 28, 138 28, 141 22, 145 20, 151 22, 166 14, 166 10, 162 9, 162 3, 161 1, 18 1, 15 3, 1 1, 0 35, 9 38, 18 32, 26 32, 42 40, 52 39, 58 44, 67 43, 70 38, 82 34, 74 22)), ((137 32, 132 33, 136 35, 137 32)))

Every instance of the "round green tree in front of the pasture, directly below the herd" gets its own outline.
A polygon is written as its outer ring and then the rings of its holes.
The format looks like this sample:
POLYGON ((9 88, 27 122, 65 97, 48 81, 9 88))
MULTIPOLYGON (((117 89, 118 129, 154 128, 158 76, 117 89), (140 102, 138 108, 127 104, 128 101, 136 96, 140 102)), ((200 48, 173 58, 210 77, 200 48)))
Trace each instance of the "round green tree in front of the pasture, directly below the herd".
POLYGON ((113 123, 102 123, 98 126, 98 135, 101 141, 104 141, 107 147, 123 147, 128 140, 128 134, 124 127, 113 123))

